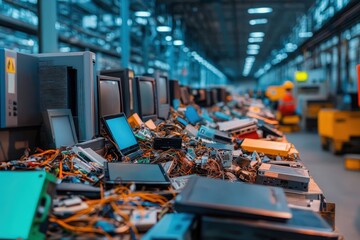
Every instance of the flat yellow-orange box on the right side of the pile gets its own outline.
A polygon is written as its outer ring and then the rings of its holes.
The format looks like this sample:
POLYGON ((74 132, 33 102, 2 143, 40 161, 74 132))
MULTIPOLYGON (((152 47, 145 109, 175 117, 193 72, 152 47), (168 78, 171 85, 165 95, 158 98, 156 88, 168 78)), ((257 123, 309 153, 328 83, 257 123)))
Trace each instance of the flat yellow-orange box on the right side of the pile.
POLYGON ((289 155, 291 146, 291 143, 273 142, 250 138, 245 138, 244 141, 241 143, 241 148, 245 151, 257 151, 264 154, 275 156, 279 155, 282 157, 287 157, 289 155))

